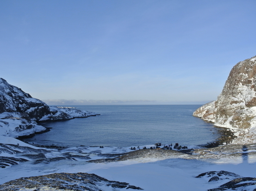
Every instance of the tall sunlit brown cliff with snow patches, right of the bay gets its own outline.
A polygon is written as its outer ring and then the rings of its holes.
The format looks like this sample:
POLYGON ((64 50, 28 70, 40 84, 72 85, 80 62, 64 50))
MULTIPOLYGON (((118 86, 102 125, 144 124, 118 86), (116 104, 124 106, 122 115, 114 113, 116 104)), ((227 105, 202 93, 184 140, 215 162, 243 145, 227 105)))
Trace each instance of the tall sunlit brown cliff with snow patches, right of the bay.
POLYGON ((256 141, 256 56, 237 63, 217 100, 198 108, 193 115, 233 129, 236 141, 256 141))

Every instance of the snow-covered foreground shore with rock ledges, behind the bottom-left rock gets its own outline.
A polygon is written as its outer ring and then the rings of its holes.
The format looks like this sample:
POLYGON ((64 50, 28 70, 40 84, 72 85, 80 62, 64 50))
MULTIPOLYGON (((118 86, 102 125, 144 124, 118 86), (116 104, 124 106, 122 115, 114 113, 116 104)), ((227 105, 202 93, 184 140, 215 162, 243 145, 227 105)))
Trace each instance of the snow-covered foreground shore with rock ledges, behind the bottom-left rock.
MULTIPOLYGON (((218 188, 240 176, 256 177, 256 145, 246 146, 245 150, 237 145, 222 146, 215 149, 196 149, 192 155, 188 155, 174 150, 136 149, 136 151, 132 151, 130 148, 119 147, 74 147, 60 151, 42 150, 42 148, 30 146, 17 139, 2 136, 0 136, 0 143, 13 144, 5 145, 8 148, 2 149, 0 156, 28 160, 18 162, 18 165, 0 168, 0 184, 21 177, 82 172, 94 173, 108 180, 128 182, 130 185, 147 191, 206 191, 218 188), (27 147, 35 150, 29 150, 27 147), (38 154, 36 153, 37 149, 38 153, 45 153, 39 162, 37 161, 38 158, 33 159, 26 155, 28 153, 38 154), (121 156, 120 153, 126 154, 121 156), (57 161, 49 160, 63 156, 67 158, 57 161), (98 162, 98 160, 106 158, 115 158, 115 160, 98 162), (218 181, 211 182, 208 182, 211 178, 208 175, 201 178, 196 177, 202 173, 222 170, 235 173, 237 177, 223 175, 219 176, 218 181)), ((149 148, 150 146, 146 147, 149 148)), ((252 185, 246 187, 245 190, 253 191, 255 188, 256 185, 252 185)), ((123 189, 104 187, 104 190, 123 189)))

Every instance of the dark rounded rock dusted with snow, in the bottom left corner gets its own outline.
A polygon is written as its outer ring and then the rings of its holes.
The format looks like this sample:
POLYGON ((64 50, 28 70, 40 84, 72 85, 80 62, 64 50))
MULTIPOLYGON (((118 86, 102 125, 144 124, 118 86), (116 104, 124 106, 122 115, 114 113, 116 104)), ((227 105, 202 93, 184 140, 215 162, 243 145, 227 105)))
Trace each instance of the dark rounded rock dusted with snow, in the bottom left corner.
POLYGON ((143 190, 126 182, 110 181, 95 174, 88 173, 54 173, 44 176, 19 178, 0 185, 2 191, 19 191, 25 189, 43 190, 72 190, 72 191, 101 191, 103 187, 115 190, 122 188, 143 190))

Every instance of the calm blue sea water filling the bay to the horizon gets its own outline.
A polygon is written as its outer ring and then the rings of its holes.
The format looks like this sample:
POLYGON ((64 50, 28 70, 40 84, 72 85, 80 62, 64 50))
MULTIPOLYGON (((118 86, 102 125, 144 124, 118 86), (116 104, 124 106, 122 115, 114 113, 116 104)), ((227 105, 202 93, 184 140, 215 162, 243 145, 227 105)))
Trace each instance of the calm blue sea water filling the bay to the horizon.
POLYGON ((213 124, 193 117, 201 105, 69 106, 99 113, 96 117, 46 122, 51 131, 28 141, 59 146, 202 145, 219 137, 213 124))

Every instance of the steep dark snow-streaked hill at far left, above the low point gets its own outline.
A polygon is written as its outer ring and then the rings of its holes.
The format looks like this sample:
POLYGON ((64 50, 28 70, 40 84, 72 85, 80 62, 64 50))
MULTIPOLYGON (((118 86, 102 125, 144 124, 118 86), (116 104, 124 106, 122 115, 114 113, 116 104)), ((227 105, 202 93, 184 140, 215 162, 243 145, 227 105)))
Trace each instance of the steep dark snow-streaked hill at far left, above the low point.
POLYGON ((37 121, 50 114, 50 109, 43 101, 32 98, 21 88, 10 85, 0 78, 0 113, 2 112, 26 113, 30 119, 37 121))

